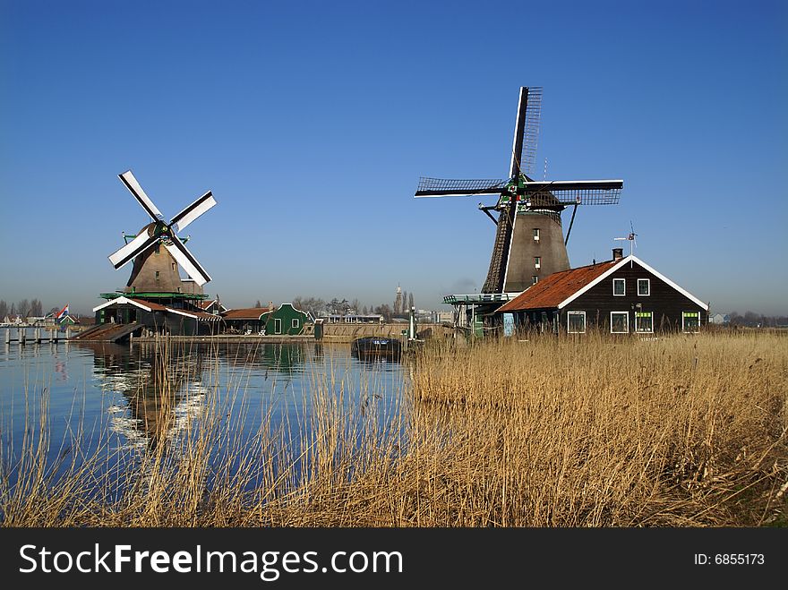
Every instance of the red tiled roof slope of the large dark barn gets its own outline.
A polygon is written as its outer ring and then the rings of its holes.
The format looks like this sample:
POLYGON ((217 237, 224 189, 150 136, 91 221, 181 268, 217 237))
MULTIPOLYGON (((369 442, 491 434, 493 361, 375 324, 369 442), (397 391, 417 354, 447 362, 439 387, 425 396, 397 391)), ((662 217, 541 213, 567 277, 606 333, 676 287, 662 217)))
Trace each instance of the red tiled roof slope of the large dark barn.
POLYGON ((528 287, 510 302, 501 305, 498 312, 522 312, 525 310, 558 307, 566 298, 577 293, 595 278, 612 269, 620 261, 606 261, 578 269, 554 272, 549 277, 528 287))

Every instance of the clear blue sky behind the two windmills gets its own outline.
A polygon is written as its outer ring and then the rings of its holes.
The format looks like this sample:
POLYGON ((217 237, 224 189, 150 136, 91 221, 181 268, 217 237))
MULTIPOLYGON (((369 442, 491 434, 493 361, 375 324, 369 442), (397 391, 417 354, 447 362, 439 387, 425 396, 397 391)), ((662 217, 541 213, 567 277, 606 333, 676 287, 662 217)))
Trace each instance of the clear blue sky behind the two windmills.
POLYGON ((542 86, 536 176, 624 179, 578 210, 572 265, 631 222, 713 312, 788 313, 788 4, 553 4, 0 1, 0 298, 123 286, 131 168, 167 218, 213 191, 186 233, 225 304, 399 284, 437 309, 484 282, 494 226, 418 177, 506 176, 542 86))

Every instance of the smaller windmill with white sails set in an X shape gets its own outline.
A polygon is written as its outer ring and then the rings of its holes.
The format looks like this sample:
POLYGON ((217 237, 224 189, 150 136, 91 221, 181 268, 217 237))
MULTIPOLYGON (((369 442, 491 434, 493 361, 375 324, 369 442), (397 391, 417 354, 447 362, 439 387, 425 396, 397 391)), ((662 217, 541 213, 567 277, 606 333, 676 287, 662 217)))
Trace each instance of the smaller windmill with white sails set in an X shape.
POLYGON ((177 234, 216 205, 213 194, 206 192, 167 222, 131 170, 118 177, 152 220, 131 242, 109 256, 116 269, 134 261, 127 290, 134 293, 183 293, 183 281, 177 270, 177 265, 180 265, 201 291, 201 286, 210 281, 210 276, 184 245, 187 238, 182 240, 177 234), (164 251, 161 246, 164 246, 164 251))

